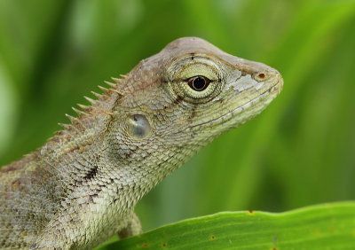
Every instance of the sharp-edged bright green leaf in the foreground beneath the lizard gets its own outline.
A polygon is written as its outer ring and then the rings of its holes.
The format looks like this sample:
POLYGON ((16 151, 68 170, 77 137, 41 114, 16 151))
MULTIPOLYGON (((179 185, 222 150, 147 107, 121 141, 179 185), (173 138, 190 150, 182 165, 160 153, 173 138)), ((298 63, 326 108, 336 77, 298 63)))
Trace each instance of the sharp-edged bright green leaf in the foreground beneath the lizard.
POLYGON ((101 249, 355 249, 355 202, 280 214, 223 212, 166 225, 101 249))

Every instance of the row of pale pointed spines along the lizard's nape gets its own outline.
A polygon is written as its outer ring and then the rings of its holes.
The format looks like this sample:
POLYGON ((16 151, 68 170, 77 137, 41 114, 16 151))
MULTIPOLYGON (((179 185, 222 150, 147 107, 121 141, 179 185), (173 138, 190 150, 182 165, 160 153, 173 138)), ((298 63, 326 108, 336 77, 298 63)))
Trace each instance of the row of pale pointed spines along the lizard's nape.
MULTIPOLYGON (((122 79, 126 79, 128 76, 121 74, 122 79)), ((119 78, 114 78, 111 77, 111 79, 114 82, 106 82, 106 84, 109 86, 109 88, 105 88, 102 86, 99 86, 99 89, 102 90, 104 93, 99 94, 94 91, 91 91, 91 93, 97 98, 97 99, 92 99, 88 97, 83 97, 85 98, 91 105, 82 105, 82 104, 77 104, 82 110, 79 110, 75 107, 72 107, 72 109, 77 113, 78 117, 71 116, 66 113, 67 118, 71 121, 70 124, 65 124, 65 123, 58 123, 60 127, 63 129, 70 131, 73 129, 83 129, 83 124, 82 121, 85 117, 88 117, 93 110, 95 110, 101 103, 105 102, 107 98, 110 98, 113 94, 116 94, 120 97, 122 97, 122 93, 118 90, 118 84, 122 82, 122 79, 119 78)), ((63 130, 57 132, 58 135, 63 134, 63 130)))

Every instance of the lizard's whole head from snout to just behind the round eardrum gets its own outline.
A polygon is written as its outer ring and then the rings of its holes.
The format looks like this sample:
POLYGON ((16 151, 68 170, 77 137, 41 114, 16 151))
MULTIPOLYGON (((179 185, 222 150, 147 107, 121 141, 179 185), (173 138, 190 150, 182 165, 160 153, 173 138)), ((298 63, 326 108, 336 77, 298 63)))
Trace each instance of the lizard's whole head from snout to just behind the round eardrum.
POLYGON ((117 85, 121 97, 113 107, 110 148, 136 165, 177 168, 263 111, 283 80, 270 66, 185 37, 142 60, 117 85))

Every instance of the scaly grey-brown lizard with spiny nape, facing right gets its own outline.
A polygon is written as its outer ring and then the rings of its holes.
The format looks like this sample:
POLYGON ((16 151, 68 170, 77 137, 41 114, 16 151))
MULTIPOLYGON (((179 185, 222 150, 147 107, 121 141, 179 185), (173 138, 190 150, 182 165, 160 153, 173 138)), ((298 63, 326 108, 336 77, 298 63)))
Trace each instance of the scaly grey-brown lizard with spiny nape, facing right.
POLYGON ((272 67, 198 37, 112 79, 47 143, 0 169, 0 248, 90 249, 141 233, 138 200, 283 86, 272 67))

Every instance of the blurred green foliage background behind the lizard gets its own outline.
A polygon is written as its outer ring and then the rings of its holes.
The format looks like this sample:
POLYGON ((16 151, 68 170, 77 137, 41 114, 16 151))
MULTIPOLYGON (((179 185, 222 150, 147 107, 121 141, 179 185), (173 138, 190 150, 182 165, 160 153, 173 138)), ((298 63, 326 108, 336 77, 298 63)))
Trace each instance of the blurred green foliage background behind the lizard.
POLYGON ((0 0, 0 165, 181 36, 264 62, 284 90, 138 203, 145 230, 218 211, 355 199, 355 2, 0 0))

